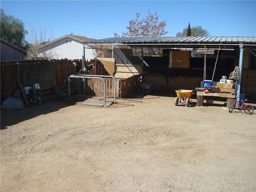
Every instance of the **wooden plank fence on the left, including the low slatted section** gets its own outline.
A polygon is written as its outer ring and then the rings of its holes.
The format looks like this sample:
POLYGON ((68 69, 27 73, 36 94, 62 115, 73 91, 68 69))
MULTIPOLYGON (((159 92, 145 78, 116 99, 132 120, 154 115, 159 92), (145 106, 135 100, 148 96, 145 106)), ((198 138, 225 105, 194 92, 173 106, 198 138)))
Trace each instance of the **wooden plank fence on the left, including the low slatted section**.
MULTIPOLYGON (((86 66, 94 64, 99 66, 98 61, 86 62, 86 66)), ((13 96, 14 92, 23 87, 32 86, 39 83, 42 88, 42 96, 52 94, 54 87, 68 84, 68 77, 77 74, 78 68, 81 68, 82 60, 16 60, 1 61, 1 103, 13 96)), ((94 70, 96 75, 101 70, 94 70)), ((104 78, 106 81, 106 96, 114 97, 114 80, 112 78, 104 78)), ((134 91, 136 82, 141 80, 140 75, 132 76, 127 79, 117 78, 116 97, 125 97, 134 91)), ((81 79, 72 80, 73 88, 84 94, 103 96, 103 82, 99 79, 87 79, 85 90, 81 79)))

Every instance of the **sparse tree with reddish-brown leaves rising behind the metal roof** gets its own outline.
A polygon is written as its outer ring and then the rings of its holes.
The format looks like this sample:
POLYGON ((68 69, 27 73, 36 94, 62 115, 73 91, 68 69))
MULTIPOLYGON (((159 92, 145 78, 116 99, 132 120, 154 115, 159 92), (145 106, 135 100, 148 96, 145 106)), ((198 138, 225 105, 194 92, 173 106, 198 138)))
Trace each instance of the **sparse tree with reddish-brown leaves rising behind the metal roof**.
MULTIPOLYGON (((166 26, 166 20, 158 23, 158 15, 155 12, 154 15, 148 10, 148 16, 140 20, 141 13, 135 13, 136 19, 129 21, 129 26, 127 27, 128 32, 123 32, 122 36, 126 37, 157 37, 167 34, 168 32, 164 30, 166 26)), ((120 35, 114 33, 115 37, 120 35)))

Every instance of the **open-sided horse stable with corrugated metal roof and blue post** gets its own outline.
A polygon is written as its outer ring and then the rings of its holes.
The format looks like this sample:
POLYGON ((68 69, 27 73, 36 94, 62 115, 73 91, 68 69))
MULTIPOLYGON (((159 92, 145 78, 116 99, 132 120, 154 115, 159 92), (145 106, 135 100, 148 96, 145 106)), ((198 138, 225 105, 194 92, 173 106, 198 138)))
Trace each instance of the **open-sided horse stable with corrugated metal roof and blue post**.
POLYGON ((142 81, 170 91, 194 90, 205 79, 229 78, 239 66, 237 94, 256 94, 256 37, 114 37, 84 47, 110 44, 115 77, 142 74, 142 81))

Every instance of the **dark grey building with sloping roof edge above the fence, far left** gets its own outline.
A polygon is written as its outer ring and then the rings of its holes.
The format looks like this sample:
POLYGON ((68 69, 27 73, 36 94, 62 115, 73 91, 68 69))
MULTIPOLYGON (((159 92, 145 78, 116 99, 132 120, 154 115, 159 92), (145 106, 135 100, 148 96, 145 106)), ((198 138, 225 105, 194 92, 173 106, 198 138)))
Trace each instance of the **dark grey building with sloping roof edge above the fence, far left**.
POLYGON ((0 60, 23 60, 26 51, 10 42, 0 38, 1 40, 1 56, 0 60))

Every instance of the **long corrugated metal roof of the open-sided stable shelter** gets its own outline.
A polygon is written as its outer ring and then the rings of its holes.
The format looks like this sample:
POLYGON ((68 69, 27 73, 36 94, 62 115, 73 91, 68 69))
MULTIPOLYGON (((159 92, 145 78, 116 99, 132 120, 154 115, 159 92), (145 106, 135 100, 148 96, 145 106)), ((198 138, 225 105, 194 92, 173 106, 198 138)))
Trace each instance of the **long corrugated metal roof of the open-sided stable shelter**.
POLYGON ((180 36, 180 37, 113 37, 89 40, 84 44, 126 44, 133 47, 184 47, 184 48, 234 48, 243 45, 256 46, 256 37, 180 36))

